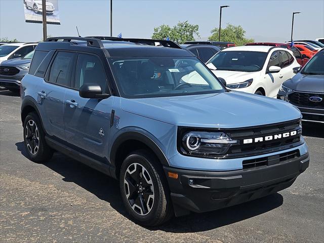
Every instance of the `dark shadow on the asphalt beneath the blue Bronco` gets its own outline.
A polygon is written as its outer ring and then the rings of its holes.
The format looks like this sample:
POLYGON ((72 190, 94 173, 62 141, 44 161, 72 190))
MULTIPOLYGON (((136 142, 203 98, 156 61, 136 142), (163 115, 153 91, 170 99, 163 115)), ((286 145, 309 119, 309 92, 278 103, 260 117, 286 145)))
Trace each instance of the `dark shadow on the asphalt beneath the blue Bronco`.
MULTIPOLYGON (((27 157, 23 142, 16 143, 16 146, 21 154, 27 157)), ((116 180, 58 152, 54 153, 45 166, 62 175, 64 181, 73 182, 99 199, 107 201, 118 213, 133 221, 121 203, 116 180)), ((145 228, 151 231, 162 230, 173 233, 207 231, 264 214, 278 208, 282 203, 283 197, 279 193, 275 193, 226 209, 202 214, 192 213, 179 218, 174 217, 164 225, 145 228)))

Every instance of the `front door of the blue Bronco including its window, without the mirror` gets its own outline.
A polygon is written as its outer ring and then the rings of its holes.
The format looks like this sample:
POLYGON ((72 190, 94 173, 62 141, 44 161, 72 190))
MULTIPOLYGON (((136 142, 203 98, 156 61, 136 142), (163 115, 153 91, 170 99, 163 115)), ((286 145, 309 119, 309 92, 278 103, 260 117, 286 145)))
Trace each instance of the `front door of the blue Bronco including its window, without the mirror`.
POLYGON ((78 54, 74 82, 64 97, 66 141, 97 160, 108 151, 110 117, 114 97, 88 99, 79 96, 83 84, 100 85, 109 94, 108 80, 101 59, 92 54, 78 54))

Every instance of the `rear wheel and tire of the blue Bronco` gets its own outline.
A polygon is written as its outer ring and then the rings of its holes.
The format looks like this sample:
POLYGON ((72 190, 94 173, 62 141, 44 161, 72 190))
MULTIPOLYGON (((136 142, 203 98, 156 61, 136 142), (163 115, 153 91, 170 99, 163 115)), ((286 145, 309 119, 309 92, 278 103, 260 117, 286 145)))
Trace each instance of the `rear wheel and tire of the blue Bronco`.
POLYGON ((45 140, 45 132, 35 112, 30 112, 24 121, 24 145, 28 158, 36 163, 46 163, 53 155, 45 140))

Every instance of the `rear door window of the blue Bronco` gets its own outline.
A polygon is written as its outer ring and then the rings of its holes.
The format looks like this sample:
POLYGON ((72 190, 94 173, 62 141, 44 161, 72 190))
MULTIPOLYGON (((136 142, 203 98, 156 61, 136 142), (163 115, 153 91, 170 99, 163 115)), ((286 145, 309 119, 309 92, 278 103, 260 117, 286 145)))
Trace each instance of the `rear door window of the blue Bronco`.
POLYGON ((75 54, 59 52, 51 66, 49 83, 70 87, 75 54))

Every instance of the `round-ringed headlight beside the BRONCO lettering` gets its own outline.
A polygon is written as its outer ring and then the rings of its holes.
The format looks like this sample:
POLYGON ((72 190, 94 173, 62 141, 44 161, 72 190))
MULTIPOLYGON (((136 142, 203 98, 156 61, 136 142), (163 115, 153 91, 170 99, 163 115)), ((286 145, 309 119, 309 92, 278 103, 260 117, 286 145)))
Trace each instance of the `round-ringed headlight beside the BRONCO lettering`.
POLYGON ((222 155, 238 144, 222 132, 186 132, 181 138, 181 152, 188 155, 222 155))

